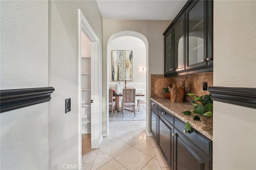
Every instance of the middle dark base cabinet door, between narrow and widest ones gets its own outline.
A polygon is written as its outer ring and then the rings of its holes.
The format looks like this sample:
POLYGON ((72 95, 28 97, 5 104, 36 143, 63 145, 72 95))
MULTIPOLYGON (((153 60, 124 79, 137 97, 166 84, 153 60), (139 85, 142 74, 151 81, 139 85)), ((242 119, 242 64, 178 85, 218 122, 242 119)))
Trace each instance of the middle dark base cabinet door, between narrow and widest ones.
POLYGON ((163 117, 158 116, 159 120, 159 146, 166 160, 172 167, 172 146, 173 146, 173 126, 170 125, 163 117))

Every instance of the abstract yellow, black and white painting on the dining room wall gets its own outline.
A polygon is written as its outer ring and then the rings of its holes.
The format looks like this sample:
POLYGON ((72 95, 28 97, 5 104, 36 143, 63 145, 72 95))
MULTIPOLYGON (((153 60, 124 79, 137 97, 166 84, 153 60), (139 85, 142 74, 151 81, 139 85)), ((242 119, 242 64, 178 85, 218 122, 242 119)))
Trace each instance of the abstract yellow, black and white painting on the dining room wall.
POLYGON ((112 81, 132 81, 132 51, 112 50, 112 81))

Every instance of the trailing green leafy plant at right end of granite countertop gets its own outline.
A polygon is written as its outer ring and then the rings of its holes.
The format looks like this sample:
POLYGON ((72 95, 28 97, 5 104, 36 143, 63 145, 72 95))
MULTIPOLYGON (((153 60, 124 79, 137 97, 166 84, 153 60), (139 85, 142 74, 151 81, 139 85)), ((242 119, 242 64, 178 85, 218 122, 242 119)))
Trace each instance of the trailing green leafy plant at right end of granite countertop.
MULTIPOLYGON (((192 113, 196 113, 201 116, 212 116, 212 110, 213 110, 213 104, 212 104, 212 98, 210 95, 203 95, 203 96, 196 96, 193 93, 187 94, 190 97, 194 97, 193 101, 190 101, 192 105, 194 105, 194 111, 184 111, 182 112, 184 115, 191 115, 192 113)), ((198 115, 194 115, 194 120, 199 121, 200 117, 198 115)), ((184 131, 185 134, 191 133, 191 127, 190 123, 187 121, 184 131)))

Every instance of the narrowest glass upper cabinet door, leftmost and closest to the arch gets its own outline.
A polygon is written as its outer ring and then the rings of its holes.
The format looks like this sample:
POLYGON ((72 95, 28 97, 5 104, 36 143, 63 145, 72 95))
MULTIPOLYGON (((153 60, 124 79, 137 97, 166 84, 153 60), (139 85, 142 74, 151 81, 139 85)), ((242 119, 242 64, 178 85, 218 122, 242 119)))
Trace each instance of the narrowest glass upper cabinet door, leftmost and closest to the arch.
POLYGON ((164 74, 166 74, 172 73, 172 32, 170 32, 164 39, 164 74))

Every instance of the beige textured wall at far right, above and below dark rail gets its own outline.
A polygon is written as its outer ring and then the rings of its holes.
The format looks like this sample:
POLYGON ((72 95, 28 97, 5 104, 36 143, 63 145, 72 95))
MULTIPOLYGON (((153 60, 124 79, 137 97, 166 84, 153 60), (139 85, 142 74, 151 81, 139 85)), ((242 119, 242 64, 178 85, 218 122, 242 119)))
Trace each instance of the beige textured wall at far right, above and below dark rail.
MULTIPOLYGON (((256 88, 256 1, 214 1, 214 86, 256 88)), ((256 109, 214 101, 213 169, 254 170, 256 109)))

